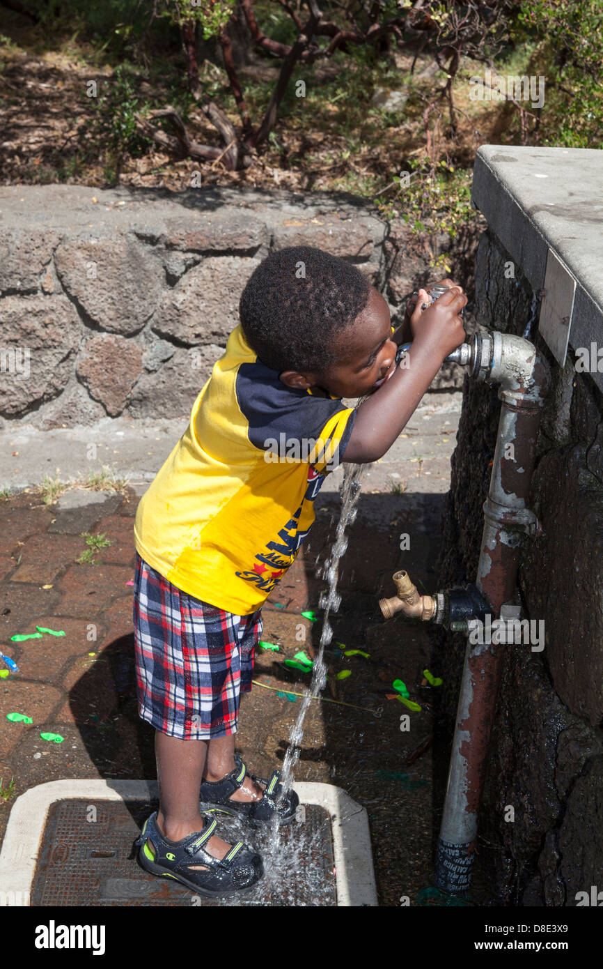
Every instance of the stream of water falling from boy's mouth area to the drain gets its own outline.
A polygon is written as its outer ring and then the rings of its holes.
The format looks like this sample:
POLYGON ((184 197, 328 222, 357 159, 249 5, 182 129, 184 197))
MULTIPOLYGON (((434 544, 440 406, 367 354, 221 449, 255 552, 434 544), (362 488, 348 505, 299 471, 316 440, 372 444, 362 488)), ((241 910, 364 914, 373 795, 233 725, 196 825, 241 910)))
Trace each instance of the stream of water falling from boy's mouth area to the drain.
MULTIPOLYGON (((326 578, 328 584, 328 589, 321 595, 319 603, 320 608, 324 610, 322 632, 320 635, 317 656, 314 661, 312 681, 310 683, 310 687, 304 692, 304 699, 300 704, 297 719, 295 720, 295 723, 293 724, 289 733, 288 749, 286 751, 282 769, 281 783, 283 785, 283 790, 281 793, 281 798, 286 795, 286 792, 290 788, 293 768, 299 760, 301 741, 304 734, 304 720, 306 718, 308 707, 312 702, 312 698, 317 697, 317 695, 321 690, 324 689, 326 685, 326 665, 323 659, 324 647, 328 646, 333 638, 333 630, 329 623, 329 614, 331 611, 337 612, 341 604, 341 596, 337 592, 339 562, 347 549, 347 536, 345 534, 347 525, 351 524, 356 517, 355 505, 356 501, 358 500, 358 495, 360 494, 360 479, 364 474, 366 464, 345 464, 344 467, 344 481, 341 488, 342 513, 337 523, 335 540, 330 549, 329 556, 320 572, 321 578, 326 578)), ((270 878, 271 876, 273 878, 284 877, 281 856, 284 854, 286 845, 283 844, 281 828, 278 822, 279 819, 277 816, 275 816, 271 826, 269 849, 266 854, 264 854, 267 878, 270 878)), ((288 846, 288 849, 290 850, 290 845, 288 846)))

